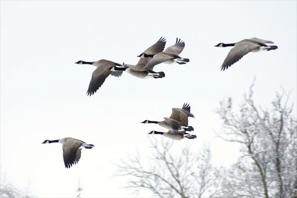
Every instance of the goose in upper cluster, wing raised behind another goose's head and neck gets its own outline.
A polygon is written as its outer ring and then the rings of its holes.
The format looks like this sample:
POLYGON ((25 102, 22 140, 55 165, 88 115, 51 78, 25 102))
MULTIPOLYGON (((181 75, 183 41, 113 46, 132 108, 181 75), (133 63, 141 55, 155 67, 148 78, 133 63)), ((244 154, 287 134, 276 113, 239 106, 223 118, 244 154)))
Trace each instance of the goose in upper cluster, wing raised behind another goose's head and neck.
POLYGON ((164 72, 155 72, 153 67, 145 68, 148 61, 157 53, 163 51, 165 48, 166 39, 161 37, 155 44, 146 49, 138 57, 141 57, 136 65, 125 64, 128 68, 125 70, 127 73, 138 77, 138 78, 163 78, 165 77, 164 72))

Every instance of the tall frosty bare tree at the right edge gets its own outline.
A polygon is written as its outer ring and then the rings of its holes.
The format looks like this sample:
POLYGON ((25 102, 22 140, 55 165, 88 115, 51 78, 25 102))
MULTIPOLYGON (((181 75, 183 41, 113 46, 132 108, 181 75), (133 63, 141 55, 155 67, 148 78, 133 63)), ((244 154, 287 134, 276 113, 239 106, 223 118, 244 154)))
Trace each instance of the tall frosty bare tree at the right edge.
POLYGON ((218 135, 241 145, 242 157, 223 183, 223 197, 297 198, 297 119, 285 91, 272 108, 255 105, 253 84, 235 113, 232 99, 220 102, 218 135))

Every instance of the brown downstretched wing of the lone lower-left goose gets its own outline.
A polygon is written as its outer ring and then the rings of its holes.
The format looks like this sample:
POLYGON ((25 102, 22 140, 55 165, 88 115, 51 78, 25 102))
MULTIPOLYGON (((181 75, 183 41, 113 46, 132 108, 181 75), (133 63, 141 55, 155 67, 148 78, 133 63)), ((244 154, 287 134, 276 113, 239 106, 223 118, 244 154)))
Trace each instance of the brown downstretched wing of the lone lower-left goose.
POLYGON ((63 159, 66 168, 76 164, 81 156, 81 146, 83 142, 78 140, 67 140, 62 146, 63 159))

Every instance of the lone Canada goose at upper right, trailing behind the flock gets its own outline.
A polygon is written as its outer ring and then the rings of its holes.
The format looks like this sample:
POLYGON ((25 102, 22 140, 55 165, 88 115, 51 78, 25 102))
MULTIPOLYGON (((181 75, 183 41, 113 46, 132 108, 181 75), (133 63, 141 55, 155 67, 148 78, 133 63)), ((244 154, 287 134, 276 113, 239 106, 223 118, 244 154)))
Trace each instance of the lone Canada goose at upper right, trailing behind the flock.
POLYGON ((244 39, 233 44, 219 43, 214 47, 224 48, 234 46, 234 48, 229 51, 227 57, 225 58, 221 66, 221 70, 224 71, 225 69, 228 69, 228 67, 239 61, 248 52, 258 52, 262 50, 269 51, 272 49, 277 49, 277 46, 267 46, 265 45, 266 43, 273 44, 272 41, 266 41, 258 38, 244 39))

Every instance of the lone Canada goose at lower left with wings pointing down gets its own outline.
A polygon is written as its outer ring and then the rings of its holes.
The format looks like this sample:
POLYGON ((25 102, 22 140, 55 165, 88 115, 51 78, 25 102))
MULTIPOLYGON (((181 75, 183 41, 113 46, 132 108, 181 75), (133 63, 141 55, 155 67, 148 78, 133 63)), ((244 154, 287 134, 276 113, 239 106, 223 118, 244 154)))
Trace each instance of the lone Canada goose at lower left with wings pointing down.
POLYGON ((92 149, 94 145, 87 144, 74 138, 62 138, 59 140, 45 140, 42 144, 61 143, 63 149, 63 159, 66 168, 78 163, 81 157, 81 149, 92 149))

